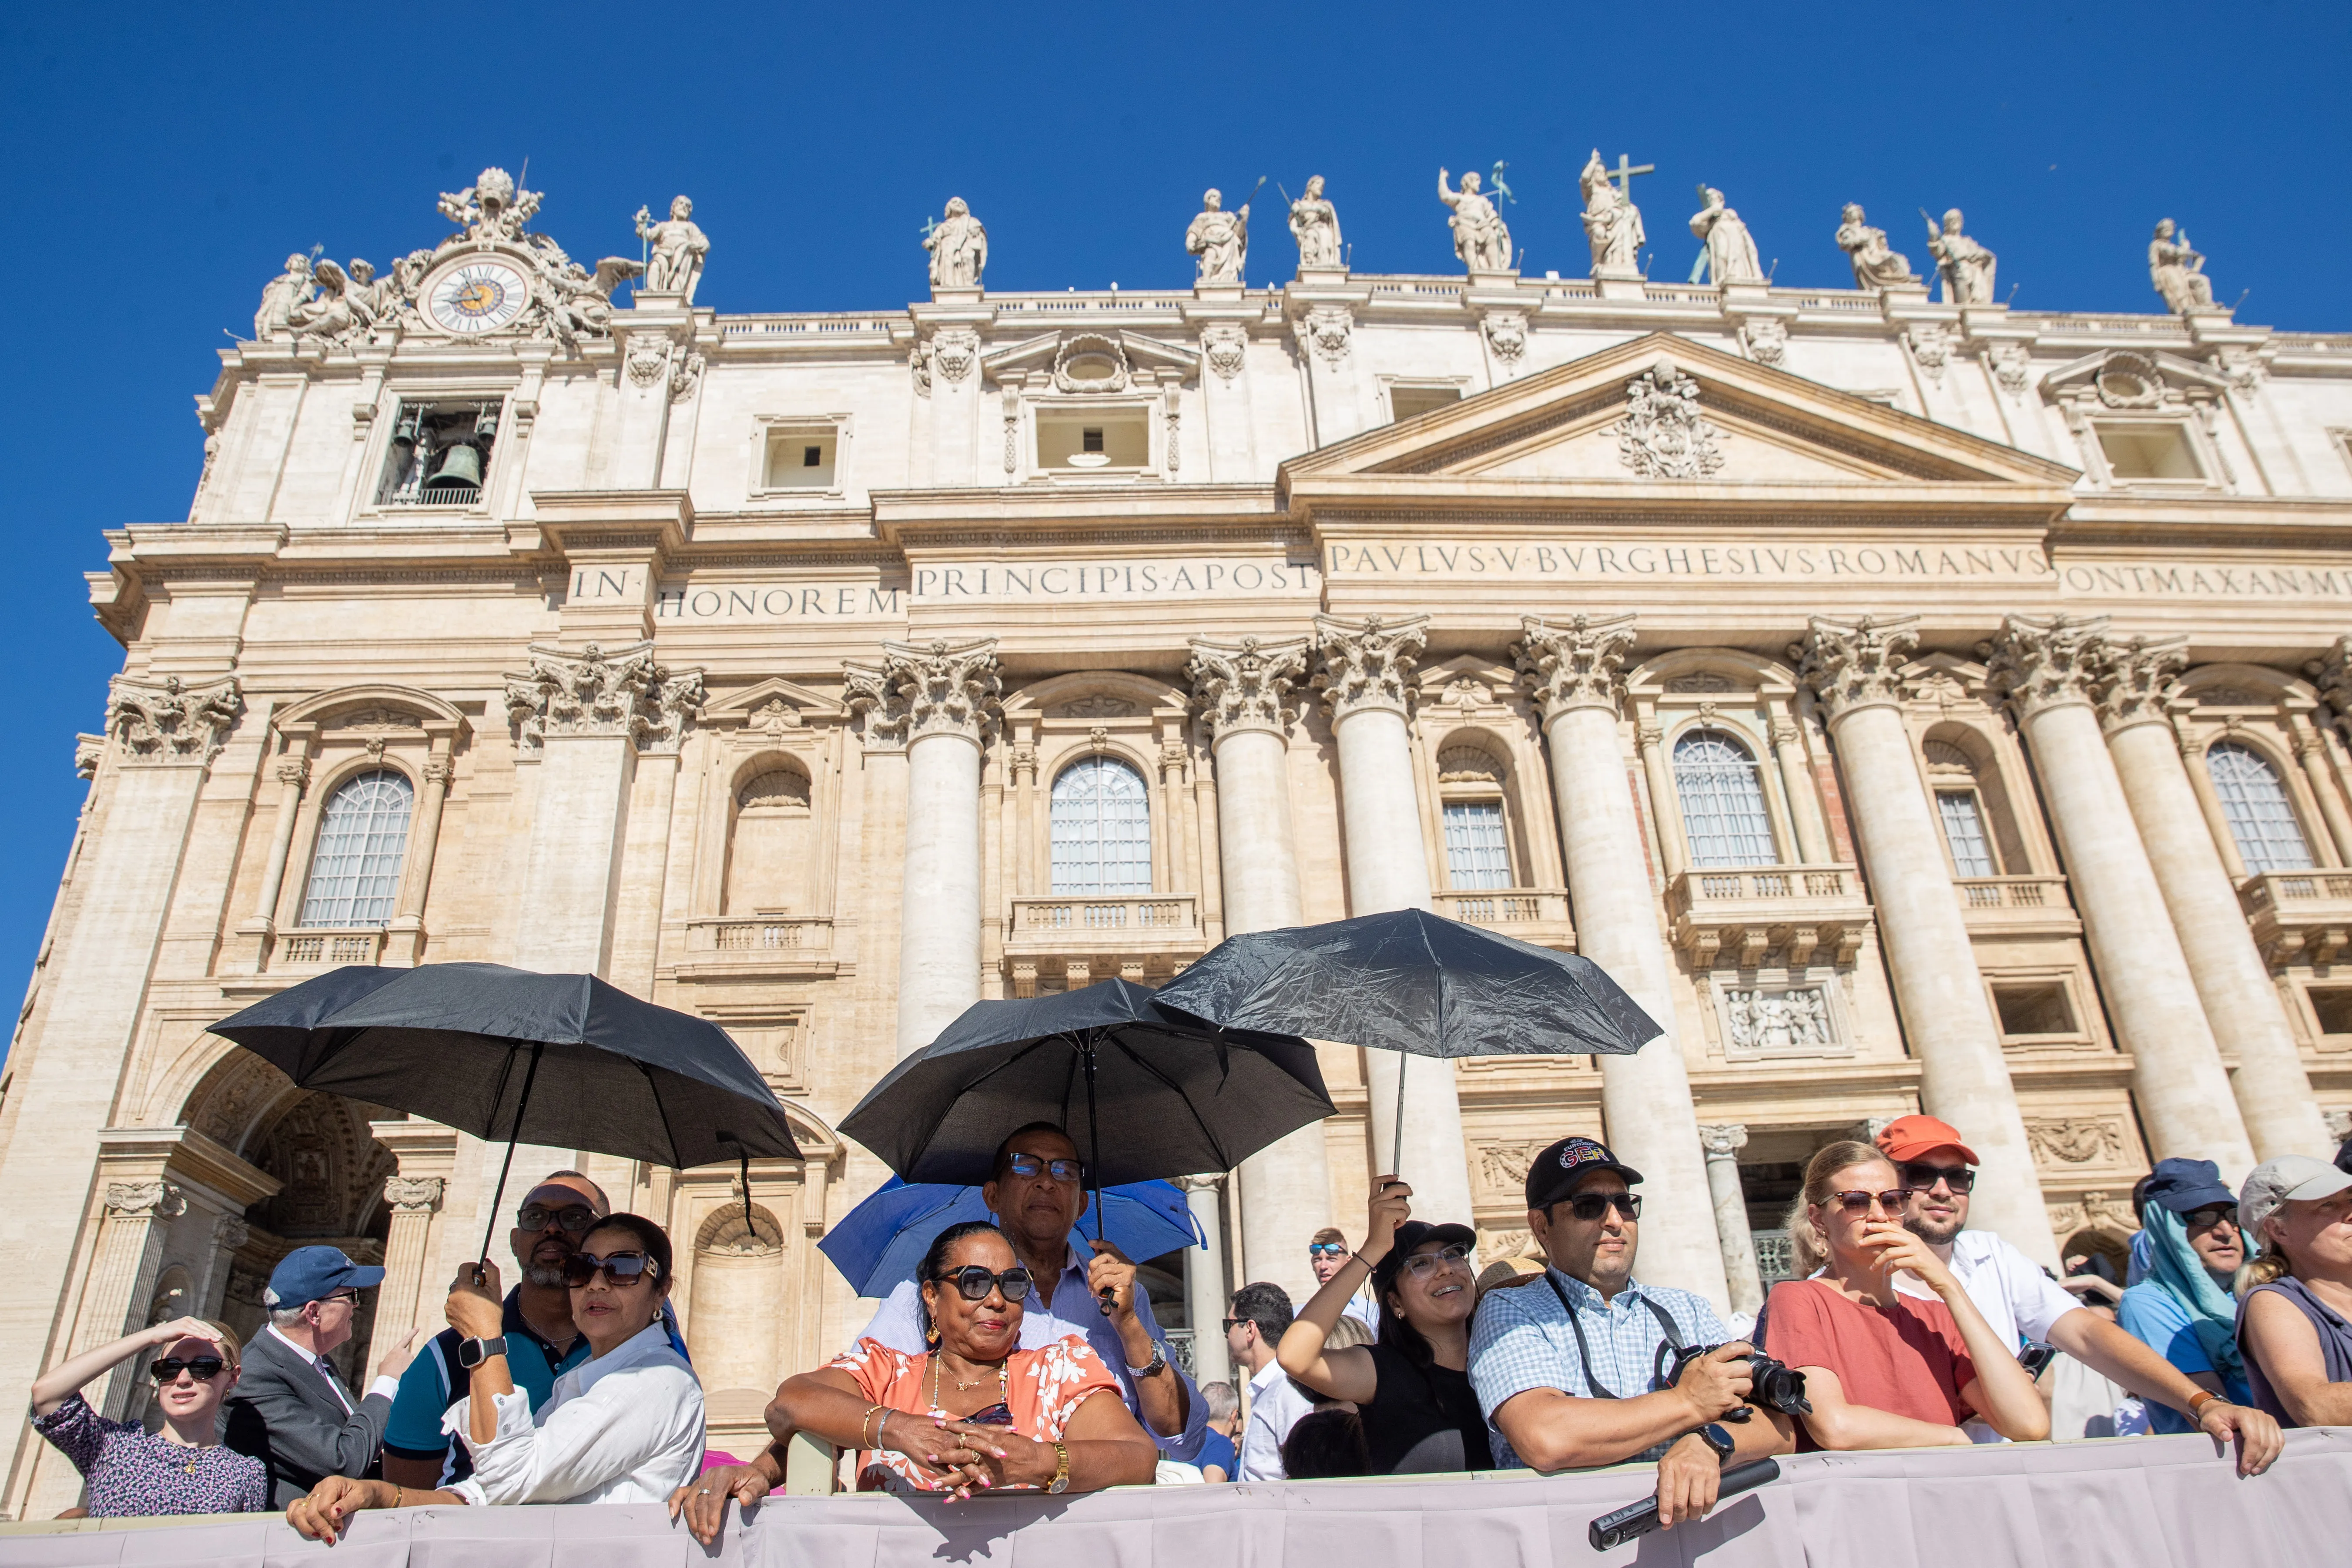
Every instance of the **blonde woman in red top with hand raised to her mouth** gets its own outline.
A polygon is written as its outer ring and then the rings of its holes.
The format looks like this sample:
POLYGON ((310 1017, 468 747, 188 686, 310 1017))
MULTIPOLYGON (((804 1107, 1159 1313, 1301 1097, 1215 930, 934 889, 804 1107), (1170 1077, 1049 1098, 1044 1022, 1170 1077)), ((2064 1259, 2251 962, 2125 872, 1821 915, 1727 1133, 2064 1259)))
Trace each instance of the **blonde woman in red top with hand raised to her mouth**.
POLYGON ((1983 1418, 2011 1441, 2051 1434, 2049 1406, 1952 1269, 1903 1227, 1896 1168, 1867 1143, 1832 1143, 1804 1168, 1804 1220, 1828 1262, 1764 1305, 1766 1354, 1806 1378, 1799 1450, 1964 1446, 1983 1418), (1912 1274, 1933 1300, 1896 1291, 1912 1274))

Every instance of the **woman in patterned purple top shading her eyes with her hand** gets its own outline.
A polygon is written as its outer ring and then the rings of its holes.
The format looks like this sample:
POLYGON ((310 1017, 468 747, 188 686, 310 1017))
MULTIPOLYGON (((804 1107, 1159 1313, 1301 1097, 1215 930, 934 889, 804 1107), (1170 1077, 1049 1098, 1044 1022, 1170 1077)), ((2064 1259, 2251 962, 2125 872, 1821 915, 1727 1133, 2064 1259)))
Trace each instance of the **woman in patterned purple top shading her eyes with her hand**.
POLYGON ((221 1446, 221 1401, 238 1387, 238 1335, 200 1316, 141 1328, 85 1349, 33 1380, 33 1429, 73 1460, 87 1481, 92 1519, 143 1514, 266 1514, 270 1483, 261 1460, 221 1446), (148 1354, 162 1432, 106 1420, 80 1389, 115 1363, 148 1354))

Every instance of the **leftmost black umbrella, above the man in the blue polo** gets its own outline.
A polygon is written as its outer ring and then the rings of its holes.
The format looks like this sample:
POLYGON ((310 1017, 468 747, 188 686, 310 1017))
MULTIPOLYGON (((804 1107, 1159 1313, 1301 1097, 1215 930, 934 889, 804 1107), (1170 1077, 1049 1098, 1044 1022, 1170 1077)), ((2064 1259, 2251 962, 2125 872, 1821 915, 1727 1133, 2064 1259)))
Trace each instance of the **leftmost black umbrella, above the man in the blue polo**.
POLYGON ((800 1159, 783 1105, 727 1030, 595 976, 353 964, 256 1001, 212 1032, 268 1058, 301 1088, 506 1138, 492 1229, 517 1143, 675 1168, 736 1159, 746 1208, 753 1154, 800 1159))

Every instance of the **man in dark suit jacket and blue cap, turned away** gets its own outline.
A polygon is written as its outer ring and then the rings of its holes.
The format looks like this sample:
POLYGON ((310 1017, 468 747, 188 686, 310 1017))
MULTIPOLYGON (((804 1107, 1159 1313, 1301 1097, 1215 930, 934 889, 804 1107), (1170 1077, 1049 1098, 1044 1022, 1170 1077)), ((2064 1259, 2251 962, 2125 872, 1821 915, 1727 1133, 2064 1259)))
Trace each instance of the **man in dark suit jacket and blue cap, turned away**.
POLYGON ((268 1326, 245 1345, 245 1375, 221 1406, 221 1441, 270 1472, 270 1502, 287 1507, 322 1476, 374 1474, 383 1422, 416 1333, 395 1345, 367 1394, 350 1396, 327 1352, 350 1338, 360 1291, 383 1269, 332 1246, 299 1246, 270 1272, 268 1326))

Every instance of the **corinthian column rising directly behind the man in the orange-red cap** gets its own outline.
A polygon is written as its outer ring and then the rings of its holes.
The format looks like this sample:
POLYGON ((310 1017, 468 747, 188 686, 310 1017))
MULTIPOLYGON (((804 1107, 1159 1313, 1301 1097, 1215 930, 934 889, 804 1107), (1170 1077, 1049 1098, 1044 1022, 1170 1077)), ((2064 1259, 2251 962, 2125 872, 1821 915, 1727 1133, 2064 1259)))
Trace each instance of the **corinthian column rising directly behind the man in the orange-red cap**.
POLYGON ((1957 1126, 1983 1157, 1971 1218, 2056 1267, 2058 1246, 2002 1058, 2002 1030, 1903 726, 1903 663, 1919 642, 1917 616, 1853 623, 1813 616, 1809 625, 1790 658, 1830 715, 1896 1006, 1919 1058, 1919 1105, 1957 1126))

